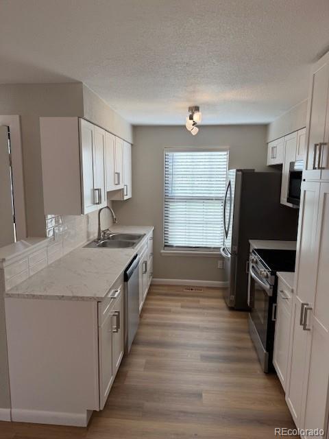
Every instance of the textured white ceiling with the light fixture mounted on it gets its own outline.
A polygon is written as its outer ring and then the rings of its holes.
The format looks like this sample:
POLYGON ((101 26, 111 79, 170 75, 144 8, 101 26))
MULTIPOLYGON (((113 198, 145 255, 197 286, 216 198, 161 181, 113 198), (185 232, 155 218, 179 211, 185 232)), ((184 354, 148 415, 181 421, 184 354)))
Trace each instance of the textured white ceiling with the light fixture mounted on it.
POLYGON ((328 0, 0 0, 0 83, 82 81, 135 124, 267 123, 307 95, 328 0))

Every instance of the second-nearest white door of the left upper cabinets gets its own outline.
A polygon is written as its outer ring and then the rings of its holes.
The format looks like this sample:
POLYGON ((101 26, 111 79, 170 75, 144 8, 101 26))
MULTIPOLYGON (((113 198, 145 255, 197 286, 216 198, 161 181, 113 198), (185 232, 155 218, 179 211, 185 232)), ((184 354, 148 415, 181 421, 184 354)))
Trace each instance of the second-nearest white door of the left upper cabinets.
POLYGON ((105 130, 94 127, 94 193, 97 209, 108 204, 105 189, 105 130))

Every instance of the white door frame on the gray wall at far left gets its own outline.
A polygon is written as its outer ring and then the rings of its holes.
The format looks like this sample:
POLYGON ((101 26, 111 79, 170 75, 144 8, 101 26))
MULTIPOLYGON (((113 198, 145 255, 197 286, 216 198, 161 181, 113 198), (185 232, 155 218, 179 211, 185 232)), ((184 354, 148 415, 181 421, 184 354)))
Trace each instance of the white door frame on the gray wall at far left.
POLYGON ((27 237, 21 118, 18 115, 0 115, 0 125, 8 126, 10 130, 16 239, 20 241, 27 237))

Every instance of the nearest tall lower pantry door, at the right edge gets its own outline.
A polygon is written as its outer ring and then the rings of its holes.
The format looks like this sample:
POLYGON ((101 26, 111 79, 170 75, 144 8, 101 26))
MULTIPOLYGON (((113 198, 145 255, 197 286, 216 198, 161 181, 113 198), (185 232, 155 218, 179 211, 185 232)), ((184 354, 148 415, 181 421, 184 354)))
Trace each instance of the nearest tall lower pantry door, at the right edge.
POLYGON ((305 429, 326 429, 329 384, 329 183, 321 183, 317 222, 317 283, 309 324, 311 346, 305 429))

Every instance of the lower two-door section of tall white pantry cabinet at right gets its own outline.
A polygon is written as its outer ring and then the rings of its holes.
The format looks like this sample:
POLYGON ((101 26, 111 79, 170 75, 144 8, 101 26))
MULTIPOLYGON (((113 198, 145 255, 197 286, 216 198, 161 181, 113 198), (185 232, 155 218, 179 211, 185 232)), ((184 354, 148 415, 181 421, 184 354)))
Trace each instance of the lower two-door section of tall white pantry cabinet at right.
POLYGON ((301 201, 286 400, 297 427, 327 438, 329 183, 303 182, 301 201))

